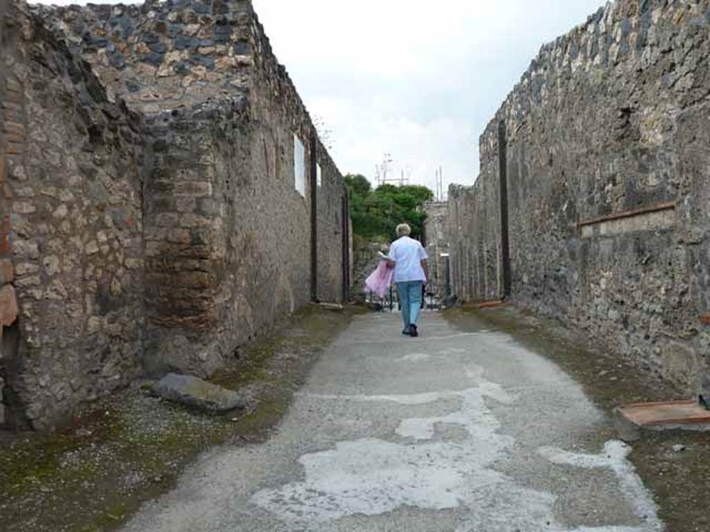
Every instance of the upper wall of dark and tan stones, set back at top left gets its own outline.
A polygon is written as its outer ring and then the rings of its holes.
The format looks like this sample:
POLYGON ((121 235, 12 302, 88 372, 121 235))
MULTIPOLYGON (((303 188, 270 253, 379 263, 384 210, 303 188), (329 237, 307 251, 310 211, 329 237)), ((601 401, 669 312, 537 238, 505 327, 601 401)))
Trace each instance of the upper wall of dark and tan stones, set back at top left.
POLYGON ((172 111, 249 89, 258 28, 249 0, 33 10, 67 35, 109 96, 121 96, 132 109, 172 111))

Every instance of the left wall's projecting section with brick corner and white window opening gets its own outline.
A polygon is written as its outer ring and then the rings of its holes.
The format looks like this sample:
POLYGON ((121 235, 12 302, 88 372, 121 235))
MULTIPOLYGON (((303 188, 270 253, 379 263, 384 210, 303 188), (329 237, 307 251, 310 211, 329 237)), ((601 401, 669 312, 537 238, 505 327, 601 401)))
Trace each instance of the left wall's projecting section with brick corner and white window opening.
POLYGON ((146 233, 155 235, 146 237, 144 358, 153 373, 210 375, 312 296, 342 300, 344 182, 317 140, 314 150, 305 106, 251 16, 251 33, 238 41, 253 54, 242 61, 251 65, 245 87, 148 118, 146 233), (316 165, 320 187, 311 179, 316 165))

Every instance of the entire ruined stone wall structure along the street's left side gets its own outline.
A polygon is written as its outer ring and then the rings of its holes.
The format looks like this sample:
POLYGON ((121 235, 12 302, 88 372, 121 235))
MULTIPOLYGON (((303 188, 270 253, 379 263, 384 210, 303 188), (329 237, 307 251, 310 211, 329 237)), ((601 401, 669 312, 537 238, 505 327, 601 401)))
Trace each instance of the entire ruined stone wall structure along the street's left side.
POLYGON ((317 138, 312 153, 249 1, 16 4, 6 23, 2 76, 21 97, 2 101, 26 135, 2 204, 14 279, 0 280, 20 306, 1 362, 14 424, 50 426, 141 372, 211 375, 311 299, 294 135, 306 172, 322 167, 317 297, 342 300, 342 176, 317 138))

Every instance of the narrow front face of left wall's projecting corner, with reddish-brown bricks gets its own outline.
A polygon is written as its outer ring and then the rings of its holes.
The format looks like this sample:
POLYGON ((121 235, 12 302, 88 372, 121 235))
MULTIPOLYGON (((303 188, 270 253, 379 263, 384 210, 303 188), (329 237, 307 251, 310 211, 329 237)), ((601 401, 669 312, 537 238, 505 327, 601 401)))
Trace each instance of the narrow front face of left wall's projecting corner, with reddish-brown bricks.
MULTIPOLYGON (((144 366, 210 375, 224 363, 226 325, 232 304, 222 292, 235 202, 253 199, 249 175, 246 100, 209 101, 190 109, 148 116, 143 209, 146 216, 146 343, 144 366)), ((251 206, 242 212, 253 214, 251 206)), ((246 216, 245 216, 246 217, 246 216)), ((252 217, 250 217, 252 218, 252 217)), ((234 242, 231 242, 234 245, 234 242)), ((247 260, 249 250, 241 250, 247 260)), ((249 289, 231 278, 236 291, 249 289)), ((252 279, 248 279, 251 281, 252 279)), ((226 287, 224 285, 225 289, 226 287)), ((239 328, 246 328, 244 319, 239 328)), ((234 349, 234 347, 232 347, 234 349)))

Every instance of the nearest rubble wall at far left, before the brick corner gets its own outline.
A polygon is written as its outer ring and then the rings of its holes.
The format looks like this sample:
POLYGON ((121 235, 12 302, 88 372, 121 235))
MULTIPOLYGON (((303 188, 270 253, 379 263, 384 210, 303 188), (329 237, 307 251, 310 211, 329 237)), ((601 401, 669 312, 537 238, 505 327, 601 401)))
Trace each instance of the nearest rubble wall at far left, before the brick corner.
POLYGON ((23 6, 5 23, 5 397, 9 423, 40 428, 139 372, 140 118, 23 6))

